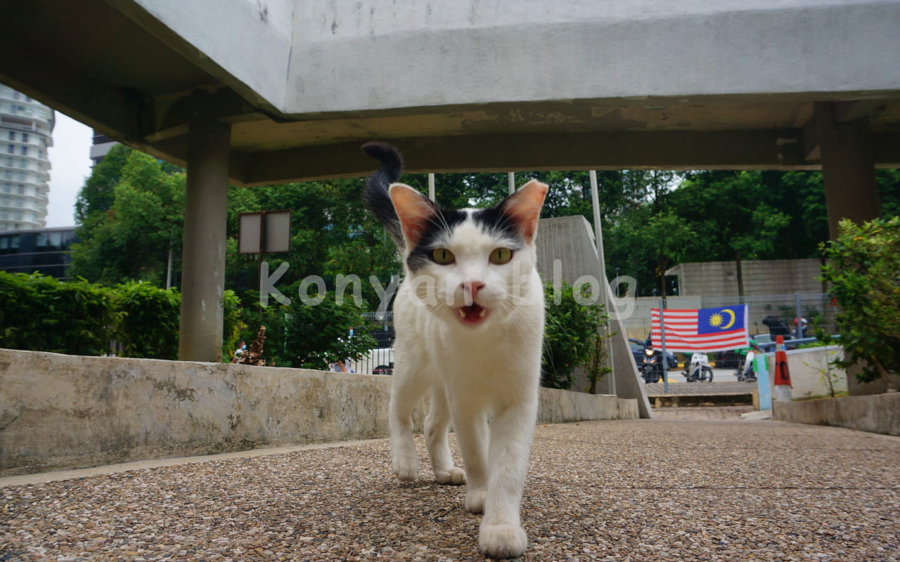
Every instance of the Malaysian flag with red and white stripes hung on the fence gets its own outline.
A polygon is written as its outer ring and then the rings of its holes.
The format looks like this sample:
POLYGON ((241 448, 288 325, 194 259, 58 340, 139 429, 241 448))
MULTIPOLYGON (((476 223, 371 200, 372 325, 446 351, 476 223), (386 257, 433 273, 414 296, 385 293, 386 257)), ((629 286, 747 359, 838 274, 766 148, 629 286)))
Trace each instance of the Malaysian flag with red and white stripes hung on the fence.
MULTIPOLYGON (((653 347, 662 348, 660 309, 653 308, 653 347)), ((662 311, 667 352, 725 352, 748 347, 747 305, 662 311)))

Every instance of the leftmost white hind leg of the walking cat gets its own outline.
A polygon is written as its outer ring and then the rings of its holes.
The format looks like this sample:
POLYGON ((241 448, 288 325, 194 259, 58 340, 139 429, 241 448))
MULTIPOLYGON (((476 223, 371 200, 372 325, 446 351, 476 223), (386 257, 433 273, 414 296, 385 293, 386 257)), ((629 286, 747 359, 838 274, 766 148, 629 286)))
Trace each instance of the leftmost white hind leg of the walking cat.
POLYGON ((419 453, 412 438, 412 411, 428 390, 430 381, 398 361, 391 386, 388 424, 391 427, 391 457, 394 476, 403 482, 419 477, 419 453))

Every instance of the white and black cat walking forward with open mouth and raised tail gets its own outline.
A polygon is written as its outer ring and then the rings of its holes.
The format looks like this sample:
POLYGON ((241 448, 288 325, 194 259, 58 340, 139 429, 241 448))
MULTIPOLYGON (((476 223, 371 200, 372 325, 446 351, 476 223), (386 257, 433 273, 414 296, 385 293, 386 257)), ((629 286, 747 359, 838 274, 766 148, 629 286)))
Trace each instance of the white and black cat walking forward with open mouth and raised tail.
POLYGON ((532 180, 488 209, 442 209, 395 183, 403 168, 396 148, 363 149, 382 163, 365 185, 366 205, 397 243, 405 270, 394 301, 393 473, 403 481, 419 475, 411 414, 430 393, 425 437, 437 481, 466 484, 466 509, 484 513, 483 553, 518 557, 527 547, 519 511, 544 335, 535 236, 547 186, 532 180), (451 425, 465 471, 450 455, 451 425))

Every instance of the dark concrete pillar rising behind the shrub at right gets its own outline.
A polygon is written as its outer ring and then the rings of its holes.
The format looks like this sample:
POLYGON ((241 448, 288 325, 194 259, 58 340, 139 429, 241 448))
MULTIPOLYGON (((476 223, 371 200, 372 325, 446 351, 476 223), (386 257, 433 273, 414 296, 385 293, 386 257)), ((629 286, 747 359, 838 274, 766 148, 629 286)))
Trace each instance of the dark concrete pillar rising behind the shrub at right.
POLYGON ((865 120, 838 120, 834 103, 816 103, 815 121, 822 150, 828 233, 835 239, 841 219, 863 222, 881 215, 872 136, 865 120))

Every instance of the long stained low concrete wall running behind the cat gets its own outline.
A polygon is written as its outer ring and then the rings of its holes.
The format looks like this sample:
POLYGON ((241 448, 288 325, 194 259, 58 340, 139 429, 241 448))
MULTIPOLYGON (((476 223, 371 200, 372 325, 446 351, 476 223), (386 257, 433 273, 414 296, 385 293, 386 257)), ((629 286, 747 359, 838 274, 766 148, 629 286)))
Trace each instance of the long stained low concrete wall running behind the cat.
MULTIPOLYGON (((0 475, 384 437, 391 384, 377 375, 0 349, 0 475)), ((542 389, 542 423, 636 417, 635 400, 542 389)))

